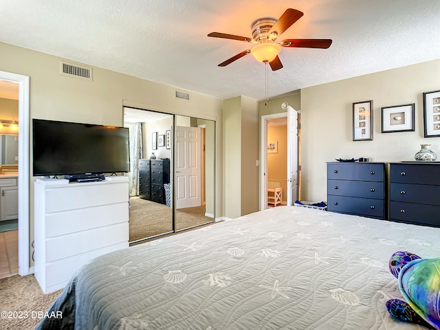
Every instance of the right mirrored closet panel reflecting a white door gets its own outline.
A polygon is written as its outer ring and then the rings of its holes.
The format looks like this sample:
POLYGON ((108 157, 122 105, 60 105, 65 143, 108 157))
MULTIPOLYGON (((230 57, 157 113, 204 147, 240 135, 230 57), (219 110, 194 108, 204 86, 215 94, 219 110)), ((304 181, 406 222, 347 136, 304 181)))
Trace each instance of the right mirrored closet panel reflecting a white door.
POLYGON ((175 230, 214 221, 215 122, 176 115, 175 230))

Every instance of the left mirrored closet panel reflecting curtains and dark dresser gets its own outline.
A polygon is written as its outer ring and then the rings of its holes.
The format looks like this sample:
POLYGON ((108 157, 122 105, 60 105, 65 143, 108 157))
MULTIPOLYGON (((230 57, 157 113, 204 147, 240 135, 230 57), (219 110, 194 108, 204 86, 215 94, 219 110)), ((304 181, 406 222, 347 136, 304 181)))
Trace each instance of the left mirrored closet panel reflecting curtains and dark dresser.
POLYGON ((125 107, 124 126, 130 132, 129 242, 134 243, 173 232, 173 115, 125 107))

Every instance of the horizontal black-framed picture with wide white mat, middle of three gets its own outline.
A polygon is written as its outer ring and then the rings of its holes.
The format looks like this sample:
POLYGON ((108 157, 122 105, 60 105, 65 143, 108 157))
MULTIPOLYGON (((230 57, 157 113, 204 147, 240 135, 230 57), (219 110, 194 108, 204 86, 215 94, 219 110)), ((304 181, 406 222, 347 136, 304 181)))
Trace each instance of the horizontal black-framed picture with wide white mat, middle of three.
POLYGON ((415 131, 415 104, 382 107, 382 133, 415 131))

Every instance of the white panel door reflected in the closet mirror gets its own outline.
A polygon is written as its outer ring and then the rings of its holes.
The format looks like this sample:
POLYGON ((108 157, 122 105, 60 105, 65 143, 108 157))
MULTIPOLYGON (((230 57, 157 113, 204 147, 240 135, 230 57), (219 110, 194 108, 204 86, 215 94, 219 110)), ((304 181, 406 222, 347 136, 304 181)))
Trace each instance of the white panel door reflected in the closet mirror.
POLYGON ((176 208, 201 206, 201 129, 176 126, 176 208))

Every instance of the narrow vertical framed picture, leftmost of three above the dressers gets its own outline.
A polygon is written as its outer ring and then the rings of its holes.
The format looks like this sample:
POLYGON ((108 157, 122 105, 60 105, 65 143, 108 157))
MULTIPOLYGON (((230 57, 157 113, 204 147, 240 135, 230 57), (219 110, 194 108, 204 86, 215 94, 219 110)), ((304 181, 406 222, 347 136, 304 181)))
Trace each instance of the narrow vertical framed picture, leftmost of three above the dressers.
POLYGON ((373 100, 353 103, 353 141, 373 140, 373 100))

